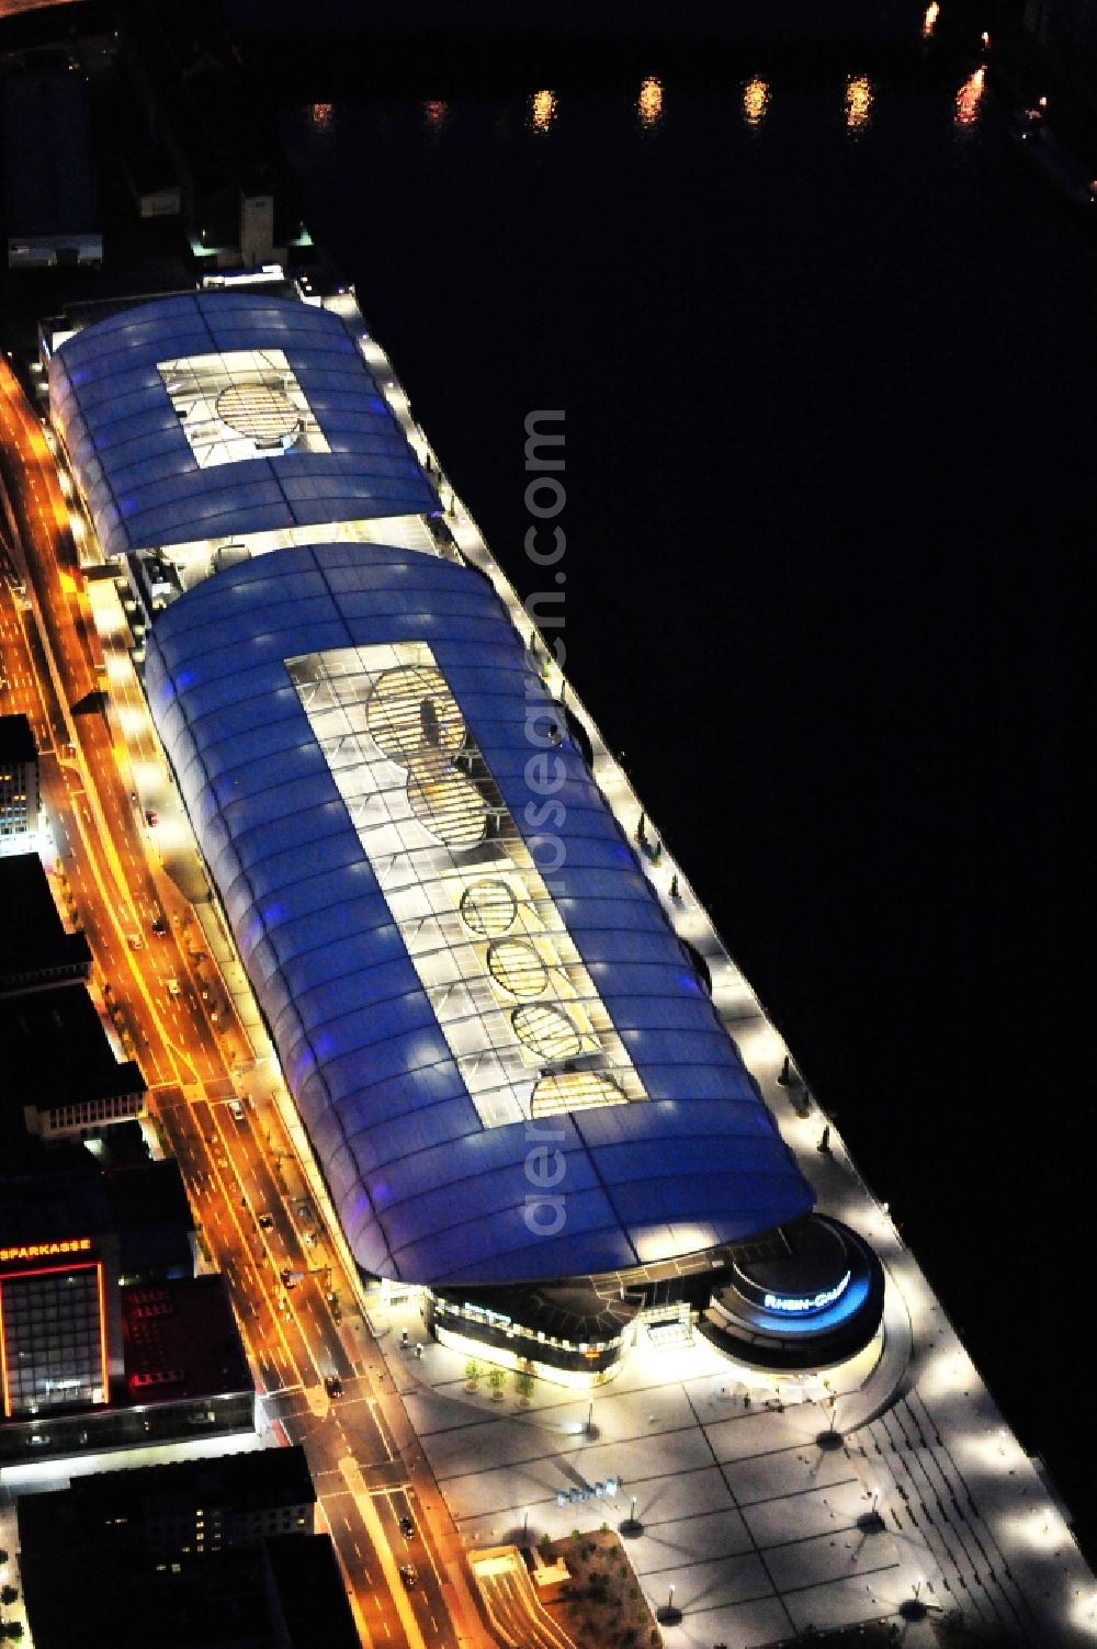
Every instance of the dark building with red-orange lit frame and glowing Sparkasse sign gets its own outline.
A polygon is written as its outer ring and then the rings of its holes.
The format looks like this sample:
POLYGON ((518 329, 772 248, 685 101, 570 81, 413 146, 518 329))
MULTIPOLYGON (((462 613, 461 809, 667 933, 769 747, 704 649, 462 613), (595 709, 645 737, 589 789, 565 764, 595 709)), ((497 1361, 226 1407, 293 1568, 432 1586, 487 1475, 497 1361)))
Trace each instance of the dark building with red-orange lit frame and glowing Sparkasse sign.
POLYGON ((254 1428, 173 1161, 0 1181, 0 1461, 254 1428))

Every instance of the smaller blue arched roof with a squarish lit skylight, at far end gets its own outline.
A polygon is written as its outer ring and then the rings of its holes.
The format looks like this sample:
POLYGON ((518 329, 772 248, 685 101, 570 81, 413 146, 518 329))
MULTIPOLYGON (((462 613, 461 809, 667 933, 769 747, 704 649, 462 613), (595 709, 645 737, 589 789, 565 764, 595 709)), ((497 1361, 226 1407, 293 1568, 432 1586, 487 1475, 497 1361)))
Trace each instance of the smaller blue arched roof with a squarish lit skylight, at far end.
POLYGON ((86 327, 49 361, 49 406, 107 556, 437 510, 343 322, 256 289, 162 298, 86 327), (233 359, 252 353, 274 356, 269 383, 292 381, 325 450, 302 439, 203 467, 160 368, 183 363, 186 378, 188 361, 223 356, 231 378, 233 359))

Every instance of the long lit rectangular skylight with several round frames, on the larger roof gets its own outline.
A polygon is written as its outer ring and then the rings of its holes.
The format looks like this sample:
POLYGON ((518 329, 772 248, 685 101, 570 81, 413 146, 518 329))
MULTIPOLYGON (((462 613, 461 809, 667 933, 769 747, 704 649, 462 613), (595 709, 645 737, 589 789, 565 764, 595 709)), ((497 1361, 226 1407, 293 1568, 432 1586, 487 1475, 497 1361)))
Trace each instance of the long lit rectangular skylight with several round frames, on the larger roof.
POLYGON ((431 648, 285 663, 485 1128, 645 1098, 431 648))

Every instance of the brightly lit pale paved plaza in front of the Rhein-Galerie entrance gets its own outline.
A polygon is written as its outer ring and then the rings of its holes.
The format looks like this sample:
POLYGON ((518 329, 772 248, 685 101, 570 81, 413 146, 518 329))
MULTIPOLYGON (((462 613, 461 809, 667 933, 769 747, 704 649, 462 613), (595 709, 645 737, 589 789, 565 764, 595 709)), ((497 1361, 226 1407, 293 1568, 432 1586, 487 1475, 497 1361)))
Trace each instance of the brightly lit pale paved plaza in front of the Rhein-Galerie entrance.
POLYGON ((955 1611, 1018 1642, 1097 1641, 1089 1571, 967 1362, 967 1397, 902 1379, 887 1395, 902 1370, 878 1344, 835 1380, 843 1446, 825 1449, 818 1382, 767 1380, 699 1339, 638 1344, 587 1430, 586 1393, 538 1382, 521 1408, 510 1379, 501 1402, 485 1385, 468 1393, 454 1351, 427 1342, 416 1360, 399 1347, 401 1327, 422 1339, 414 1303, 374 1321, 465 1543, 617 1527, 635 1501, 643 1532, 629 1552, 648 1601, 673 1586, 683 1611, 665 1628, 670 1649, 777 1644, 808 1626, 899 1621, 914 1603, 929 1608, 902 1619, 911 1649, 929 1649, 934 1621, 955 1611), (843 1407, 856 1420, 873 1398, 883 1412, 846 1431, 843 1407), (614 1478, 615 1497, 558 1504, 614 1478))

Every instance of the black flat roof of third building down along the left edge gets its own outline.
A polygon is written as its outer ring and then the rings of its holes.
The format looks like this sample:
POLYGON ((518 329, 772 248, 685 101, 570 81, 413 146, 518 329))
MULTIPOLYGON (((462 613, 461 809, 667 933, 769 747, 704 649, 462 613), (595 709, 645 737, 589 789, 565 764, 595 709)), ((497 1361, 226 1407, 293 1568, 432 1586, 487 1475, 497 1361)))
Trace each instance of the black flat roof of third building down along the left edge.
POLYGON ((144 1093, 135 1060, 117 1060, 82 984, 58 984, 0 999, 7 1105, 58 1110, 87 1100, 144 1093))

